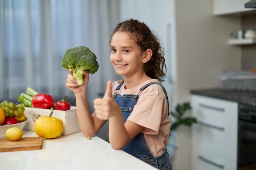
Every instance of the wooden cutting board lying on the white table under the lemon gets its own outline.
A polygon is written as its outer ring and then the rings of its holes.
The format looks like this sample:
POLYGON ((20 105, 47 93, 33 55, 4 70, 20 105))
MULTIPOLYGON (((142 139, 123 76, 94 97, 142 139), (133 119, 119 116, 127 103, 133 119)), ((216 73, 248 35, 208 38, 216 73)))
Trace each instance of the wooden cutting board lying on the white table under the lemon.
POLYGON ((18 141, 9 141, 7 138, 0 139, 0 152, 40 150, 42 141, 42 137, 22 137, 18 141))

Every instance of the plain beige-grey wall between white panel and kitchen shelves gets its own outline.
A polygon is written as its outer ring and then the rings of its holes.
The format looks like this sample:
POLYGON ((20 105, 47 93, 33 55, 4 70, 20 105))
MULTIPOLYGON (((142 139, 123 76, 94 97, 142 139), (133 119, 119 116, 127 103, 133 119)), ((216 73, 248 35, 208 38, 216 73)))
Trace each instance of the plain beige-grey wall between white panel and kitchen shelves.
MULTIPOLYGON (((223 70, 241 68, 241 47, 229 46, 228 31, 241 27, 240 19, 215 17, 211 0, 176 0, 177 102, 190 100, 191 89, 220 87, 223 70)), ((190 169, 190 128, 177 130, 173 170, 190 169)))

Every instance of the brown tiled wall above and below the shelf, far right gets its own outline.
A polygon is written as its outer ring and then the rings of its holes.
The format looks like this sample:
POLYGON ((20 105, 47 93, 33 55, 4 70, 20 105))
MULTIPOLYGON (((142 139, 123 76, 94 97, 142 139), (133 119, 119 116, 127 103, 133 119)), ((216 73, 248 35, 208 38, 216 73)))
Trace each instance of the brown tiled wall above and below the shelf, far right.
MULTIPOLYGON (((256 28, 256 14, 242 16, 242 29, 256 28)), ((256 44, 242 46, 242 69, 256 68, 256 44)))

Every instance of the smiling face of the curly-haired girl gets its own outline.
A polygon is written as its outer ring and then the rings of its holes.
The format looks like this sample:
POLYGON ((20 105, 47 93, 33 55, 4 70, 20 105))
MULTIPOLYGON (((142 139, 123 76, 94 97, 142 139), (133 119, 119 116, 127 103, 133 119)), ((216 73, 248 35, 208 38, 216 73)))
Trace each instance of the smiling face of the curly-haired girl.
POLYGON ((144 72, 140 47, 126 32, 116 32, 111 38, 110 61, 118 75, 131 77, 144 72))

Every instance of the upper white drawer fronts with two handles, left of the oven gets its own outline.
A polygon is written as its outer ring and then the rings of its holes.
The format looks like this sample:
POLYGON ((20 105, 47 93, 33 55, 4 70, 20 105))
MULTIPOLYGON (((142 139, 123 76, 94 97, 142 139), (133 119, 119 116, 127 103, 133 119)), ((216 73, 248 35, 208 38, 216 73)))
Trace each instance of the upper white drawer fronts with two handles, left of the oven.
POLYGON ((220 157, 236 161, 238 104, 211 97, 192 96, 192 144, 220 157))

